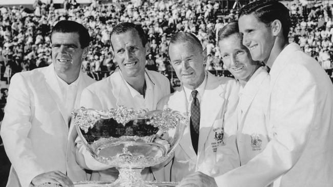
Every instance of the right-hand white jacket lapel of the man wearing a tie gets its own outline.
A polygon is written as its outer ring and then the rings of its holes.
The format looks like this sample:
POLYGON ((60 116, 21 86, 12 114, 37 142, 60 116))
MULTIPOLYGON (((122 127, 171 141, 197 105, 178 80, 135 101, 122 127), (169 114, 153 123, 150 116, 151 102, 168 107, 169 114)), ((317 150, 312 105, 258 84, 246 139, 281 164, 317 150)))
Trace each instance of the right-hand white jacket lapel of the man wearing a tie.
POLYGON ((207 136, 213 128, 214 121, 217 118, 217 114, 225 104, 223 92, 225 90, 219 84, 217 79, 212 74, 208 74, 207 83, 201 99, 201 116, 200 116, 200 131, 199 131, 199 143, 198 143, 198 155, 202 154, 204 149, 204 143, 207 136))

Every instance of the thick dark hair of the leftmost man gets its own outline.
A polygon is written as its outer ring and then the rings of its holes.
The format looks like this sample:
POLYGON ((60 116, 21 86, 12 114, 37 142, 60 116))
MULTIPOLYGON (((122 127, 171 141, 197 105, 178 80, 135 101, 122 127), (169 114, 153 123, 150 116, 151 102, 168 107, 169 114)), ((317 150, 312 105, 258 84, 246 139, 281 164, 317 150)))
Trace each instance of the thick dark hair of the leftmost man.
POLYGON ((54 33, 77 33, 79 36, 81 49, 89 46, 90 35, 88 30, 76 21, 61 20, 57 22, 57 24, 52 28, 51 31, 51 42, 52 35, 54 33))

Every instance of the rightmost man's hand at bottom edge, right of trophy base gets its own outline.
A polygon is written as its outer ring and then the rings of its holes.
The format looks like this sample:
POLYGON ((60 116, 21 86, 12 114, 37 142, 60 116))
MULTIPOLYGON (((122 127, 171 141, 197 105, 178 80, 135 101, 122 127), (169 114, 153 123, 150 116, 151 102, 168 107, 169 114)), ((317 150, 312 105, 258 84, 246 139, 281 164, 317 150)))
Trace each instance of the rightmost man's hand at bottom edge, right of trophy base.
POLYGON ((210 177, 201 172, 195 172, 192 175, 186 176, 177 187, 217 187, 217 184, 213 177, 210 177))

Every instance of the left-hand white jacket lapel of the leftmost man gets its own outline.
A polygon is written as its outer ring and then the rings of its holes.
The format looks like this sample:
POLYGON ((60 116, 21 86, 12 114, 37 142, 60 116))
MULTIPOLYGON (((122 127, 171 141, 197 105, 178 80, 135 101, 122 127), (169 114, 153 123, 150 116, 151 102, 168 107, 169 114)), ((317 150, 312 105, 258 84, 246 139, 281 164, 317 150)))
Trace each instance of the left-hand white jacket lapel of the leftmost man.
POLYGON ((55 76, 56 75, 54 72, 54 66, 53 66, 53 64, 50 64, 48 66, 48 70, 45 71, 46 87, 49 90, 52 99, 56 103, 58 110, 61 113, 61 116, 63 116, 64 124, 66 125, 66 128, 68 130, 68 120, 67 120, 67 116, 66 116, 66 109, 64 106, 65 103, 63 103, 62 102, 63 99, 59 97, 62 94, 60 91, 59 83, 55 76))

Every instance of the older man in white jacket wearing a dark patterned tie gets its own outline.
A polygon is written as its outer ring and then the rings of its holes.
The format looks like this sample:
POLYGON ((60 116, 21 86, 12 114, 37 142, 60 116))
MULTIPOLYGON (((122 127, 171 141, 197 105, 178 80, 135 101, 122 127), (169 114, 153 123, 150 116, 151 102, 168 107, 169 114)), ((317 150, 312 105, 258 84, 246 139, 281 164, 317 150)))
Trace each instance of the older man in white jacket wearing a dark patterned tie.
POLYGON ((189 112, 191 119, 173 160, 165 167, 165 179, 180 181, 196 171, 216 175, 238 167, 239 85, 234 79, 215 77, 204 70, 206 50, 202 50, 193 34, 175 34, 169 44, 169 56, 182 85, 163 98, 158 108, 189 112), (219 167, 215 167, 217 163, 219 167))

